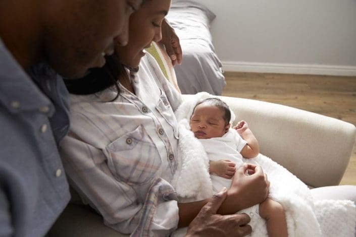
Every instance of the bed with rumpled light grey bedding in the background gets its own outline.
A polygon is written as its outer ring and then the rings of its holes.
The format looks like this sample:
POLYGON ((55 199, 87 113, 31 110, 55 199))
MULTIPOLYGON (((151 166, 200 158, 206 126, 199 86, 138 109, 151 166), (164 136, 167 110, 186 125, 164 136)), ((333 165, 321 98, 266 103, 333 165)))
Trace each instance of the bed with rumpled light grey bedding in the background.
POLYGON ((215 14, 191 0, 173 0, 167 19, 182 47, 182 64, 175 66, 178 86, 183 94, 206 91, 221 95, 225 86, 222 65, 215 52, 210 23, 215 14))

